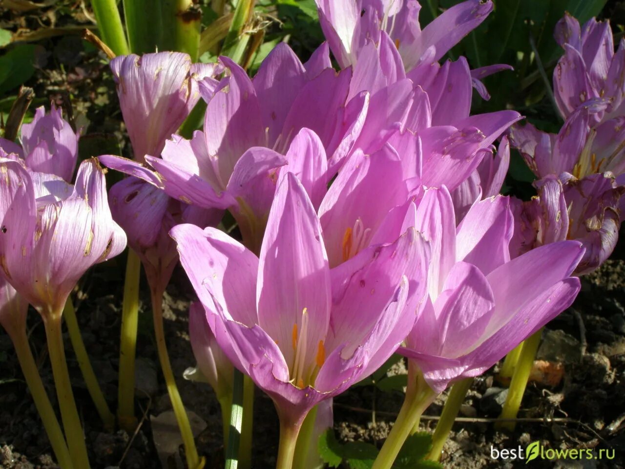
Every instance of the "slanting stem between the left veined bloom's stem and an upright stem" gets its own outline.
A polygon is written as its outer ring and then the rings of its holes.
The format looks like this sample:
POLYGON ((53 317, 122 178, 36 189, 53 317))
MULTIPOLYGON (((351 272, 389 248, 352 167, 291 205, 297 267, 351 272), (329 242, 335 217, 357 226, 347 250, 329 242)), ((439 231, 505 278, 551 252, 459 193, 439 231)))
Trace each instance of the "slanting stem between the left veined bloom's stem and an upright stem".
POLYGON ((106 430, 113 430, 115 427, 115 416, 109 409, 106 399, 104 399, 104 394, 98 383, 98 378, 96 378, 96 373, 94 373, 91 361, 89 361, 89 355, 87 355, 87 350, 84 347, 83 337, 78 327, 76 311, 74 311, 71 298, 68 298, 68 301, 65 302, 63 318, 65 319, 65 324, 68 326, 69 340, 71 340, 74 353, 76 353, 78 366, 80 366, 80 370, 83 372, 84 382, 87 385, 89 395, 91 395, 100 418, 104 422, 104 428, 106 428, 106 430))

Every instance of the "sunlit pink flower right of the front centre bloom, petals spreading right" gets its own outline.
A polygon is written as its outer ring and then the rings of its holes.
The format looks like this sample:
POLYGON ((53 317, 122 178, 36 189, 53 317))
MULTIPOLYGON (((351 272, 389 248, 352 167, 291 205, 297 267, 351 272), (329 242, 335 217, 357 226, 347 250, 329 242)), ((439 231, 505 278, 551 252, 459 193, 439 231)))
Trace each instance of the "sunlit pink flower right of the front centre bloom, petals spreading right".
POLYGON ((571 305, 571 273, 581 243, 562 241, 509 260, 507 197, 476 202, 456 228, 446 188, 429 189, 416 228, 432 247, 429 299, 400 353, 414 360, 436 393, 481 375, 527 336, 571 305))

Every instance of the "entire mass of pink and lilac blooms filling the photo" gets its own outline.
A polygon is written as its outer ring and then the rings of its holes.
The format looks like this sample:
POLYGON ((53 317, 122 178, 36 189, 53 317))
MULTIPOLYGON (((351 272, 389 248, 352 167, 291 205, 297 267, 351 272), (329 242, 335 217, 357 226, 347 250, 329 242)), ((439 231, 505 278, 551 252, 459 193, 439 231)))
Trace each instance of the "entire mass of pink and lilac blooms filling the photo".
POLYGON ((134 159, 99 157, 132 176, 108 203, 95 159, 67 182, 76 134, 56 109, 21 148, 0 142, 0 264, 24 308, 58 311, 127 236, 156 290, 181 261, 207 380, 227 387, 236 367, 294 427, 396 351, 436 393, 483 373, 571 305, 625 200, 625 45, 607 23, 559 24, 566 123, 551 135, 516 111, 470 115, 480 79, 507 66, 439 63, 491 1, 422 30, 416 1, 317 7, 327 43, 304 64, 281 43, 253 78, 228 58, 113 59, 134 159), (199 99, 204 128, 184 139, 199 99), (499 195, 510 146, 539 178, 531 201, 499 195), (226 210, 237 239, 217 228, 226 210))

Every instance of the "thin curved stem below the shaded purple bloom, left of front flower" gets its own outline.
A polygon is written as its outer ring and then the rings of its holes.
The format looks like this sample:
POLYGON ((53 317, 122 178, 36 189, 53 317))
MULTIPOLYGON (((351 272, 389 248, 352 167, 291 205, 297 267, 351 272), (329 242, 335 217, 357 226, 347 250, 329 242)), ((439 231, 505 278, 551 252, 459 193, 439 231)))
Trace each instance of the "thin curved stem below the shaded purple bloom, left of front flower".
POLYGON ((169 363, 169 355, 165 344, 165 332, 163 328, 163 291, 151 288, 152 311, 154 315, 154 335, 156 336, 156 348, 158 349, 159 360, 161 361, 161 369, 165 377, 165 384, 171 400, 171 406, 178 421, 178 428, 183 437, 184 453, 187 459, 189 469, 201 469, 204 467, 206 460, 197 455, 191 424, 186 410, 184 410, 183 400, 180 398, 174 372, 171 370, 169 363))

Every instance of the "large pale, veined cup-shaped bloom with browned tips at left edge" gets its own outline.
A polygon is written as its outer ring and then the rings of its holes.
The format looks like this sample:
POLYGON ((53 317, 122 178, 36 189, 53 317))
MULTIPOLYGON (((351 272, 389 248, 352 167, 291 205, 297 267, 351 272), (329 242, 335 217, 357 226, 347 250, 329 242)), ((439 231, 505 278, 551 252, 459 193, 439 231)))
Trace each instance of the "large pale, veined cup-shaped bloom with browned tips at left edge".
POLYGON ((126 247, 111 217, 104 171, 96 159, 84 161, 73 188, 32 177, 37 173, 12 159, 0 159, 0 172, 4 276, 42 315, 60 314, 85 271, 126 247))

